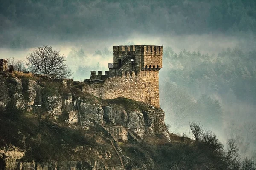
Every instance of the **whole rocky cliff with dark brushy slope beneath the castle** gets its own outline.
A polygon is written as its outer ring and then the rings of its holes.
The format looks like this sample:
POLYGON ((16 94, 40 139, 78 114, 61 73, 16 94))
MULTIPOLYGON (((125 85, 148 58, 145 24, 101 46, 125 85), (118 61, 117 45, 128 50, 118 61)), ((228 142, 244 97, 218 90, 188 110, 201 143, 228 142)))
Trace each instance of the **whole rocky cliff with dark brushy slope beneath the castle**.
POLYGON ((101 100, 70 79, 1 72, 0 111, 0 169, 153 169, 137 146, 170 142, 160 108, 101 100))

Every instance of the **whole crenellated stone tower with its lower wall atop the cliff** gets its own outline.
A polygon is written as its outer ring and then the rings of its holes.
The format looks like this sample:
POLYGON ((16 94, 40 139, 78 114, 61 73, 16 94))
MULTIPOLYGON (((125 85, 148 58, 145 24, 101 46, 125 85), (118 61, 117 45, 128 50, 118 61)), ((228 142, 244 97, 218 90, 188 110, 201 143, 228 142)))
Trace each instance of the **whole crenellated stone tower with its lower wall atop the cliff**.
POLYGON ((114 46, 114 63, 109 71, 91 71, 83 91, 102 99, 126 97, 159 107, 159 70, 162 46, 114 46))

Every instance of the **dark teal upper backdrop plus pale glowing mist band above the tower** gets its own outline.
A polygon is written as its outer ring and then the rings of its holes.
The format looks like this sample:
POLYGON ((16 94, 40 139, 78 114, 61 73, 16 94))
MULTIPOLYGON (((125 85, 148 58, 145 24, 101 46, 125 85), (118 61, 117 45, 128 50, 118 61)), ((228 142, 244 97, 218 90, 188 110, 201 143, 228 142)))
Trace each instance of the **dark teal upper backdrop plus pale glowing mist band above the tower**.
POLYGON ((40 45, 51 45, 66 56, 72 47, 90 56, 128 42, 163 44, 177 53, 185 48, 209 54, 236 45, 254 48, 253 26, 242 22, 253 20, 254 13, 237 13, 255 6, 253 2, 0 0, 0 58, 25 59, 40 45), (226 8, 231 12, 225 14, 226 8))

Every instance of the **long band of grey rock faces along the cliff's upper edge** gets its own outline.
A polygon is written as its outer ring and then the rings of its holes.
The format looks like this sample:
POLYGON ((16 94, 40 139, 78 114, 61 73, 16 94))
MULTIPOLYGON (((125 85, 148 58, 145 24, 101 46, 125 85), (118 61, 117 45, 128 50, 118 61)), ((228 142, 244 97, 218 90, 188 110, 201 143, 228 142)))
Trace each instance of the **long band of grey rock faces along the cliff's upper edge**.
MULTIPOLYGON (((43 80, 48 82, 51 79, 43 77, 43 80)), ((82 125, 84 128, 88 128, 96 124, 118 126, 127 128, 141 139, 145 135, 157 135, 169 140, 168 135, 166 136, 168 133, 164 124, 164 112, 159 108, 138 111, 125 109, 119 105, 102 106, 100 102, 91 102, 81 96, 76 99, 74 92, 69 89, 70 83, 67 83, 69 82, 67 80, 58 79, 57 81, 62 84, 64 89, 62 94, 56 93, 55 91, 58 89, 51 89, 50 86, 49 90, 45 90, 44 85, 31 79, 1 77, 1 82, 2 86, 7 89, 7 96, 13 97, 16 95, 19 98, 17 105, 23 106, 27 110, 31 109, 29 107, 31 105, 41 105, 49 115, 55 118, 67 114, 66 122, 73 127, 82 125)), ((6 105, 6 102, 1 100, 0 104, 6 105)), ((116 133, 118 127, 108 129, 111 129, 110 133, 116 133)), ((120 139, 126 140, 127 137, 121 137, 120 139)))

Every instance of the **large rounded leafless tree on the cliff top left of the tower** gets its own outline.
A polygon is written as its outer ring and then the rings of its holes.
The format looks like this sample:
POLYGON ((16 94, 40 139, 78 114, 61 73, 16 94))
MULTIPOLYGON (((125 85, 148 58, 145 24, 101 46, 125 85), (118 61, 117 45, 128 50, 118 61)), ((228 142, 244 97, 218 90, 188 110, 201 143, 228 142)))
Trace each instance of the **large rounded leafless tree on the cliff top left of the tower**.
POLYGON ((44 45, 35 48, 33 53, 26 56, 26 65, 36 74, 47 74, 58 78, 66 78, 72 75, 67 66, 66 57, 60 51, 53 50, 51 46, 44 45))

